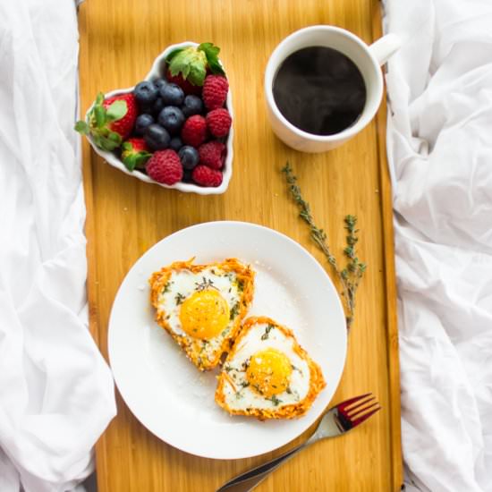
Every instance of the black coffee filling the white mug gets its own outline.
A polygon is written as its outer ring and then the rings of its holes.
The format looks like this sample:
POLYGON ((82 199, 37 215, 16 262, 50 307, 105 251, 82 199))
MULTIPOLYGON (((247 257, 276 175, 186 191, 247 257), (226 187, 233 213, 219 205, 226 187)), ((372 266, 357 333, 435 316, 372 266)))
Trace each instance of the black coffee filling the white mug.
POLYGON ((333 135, 357 121, 366 85, 352 60, 329 47, 306 47, 289 55, 274 79, 276 106, 297 128, 333 135))

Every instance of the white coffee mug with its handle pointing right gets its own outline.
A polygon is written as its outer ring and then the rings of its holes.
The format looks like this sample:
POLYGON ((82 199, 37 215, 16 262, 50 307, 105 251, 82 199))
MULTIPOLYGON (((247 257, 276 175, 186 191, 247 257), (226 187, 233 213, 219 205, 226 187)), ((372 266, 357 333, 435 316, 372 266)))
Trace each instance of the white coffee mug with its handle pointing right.
POLYGON ((368 46, 352 32, 334 26, 310 26, 284 38, 270 56, 265 72, 267 112, 277 137, 289 147, 303 152, 325 152, 351 139, 376 115, 384 87, 380 65, 386 63, 400 44, 400 38, 387 34, 368 46), (359 119, 343 131, 332 135, 302 131, 290 123, 276 106, 273 95, 276 72, 285 58, 305 47, 331 47, 348 56, 361 72, 366 86, 366 103, 359 119))

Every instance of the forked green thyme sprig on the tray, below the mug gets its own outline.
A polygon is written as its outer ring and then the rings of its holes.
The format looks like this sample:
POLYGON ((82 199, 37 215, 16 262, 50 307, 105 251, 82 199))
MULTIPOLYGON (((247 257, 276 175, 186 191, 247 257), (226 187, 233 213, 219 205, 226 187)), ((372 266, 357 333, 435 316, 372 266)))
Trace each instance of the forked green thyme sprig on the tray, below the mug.
POLYGON ((347 246, 344 248, 344 256, 347 259, 347 264, 341 269, 330 250, 327 233, 314 223, 310 204, 302 198, 301 188, 297 184, 297 177, 293 174, 293 168, 288 162, 282 169, 282 172, 285 174, 285 180, 293 200, 300 210, 299 216, 310 227, 311 239, 318 245, 318 248, 323 251, 327 257, 328 263, 335 272, 335 275, 340 280, 340 284, 342 284, 342 295, 344 296, 345 301, 345 318, 347 329, 350 329, 355 318, 355 296, 357 288, 361 283, 361 278, 367 267, 365 263, 357 258, 357 251, 355 248, 359 241, 359 238, 357 237, 359 229, 356 229, 357 217, 349 215, 344 218, 344 228, 347 231, 345 237, 347 246))

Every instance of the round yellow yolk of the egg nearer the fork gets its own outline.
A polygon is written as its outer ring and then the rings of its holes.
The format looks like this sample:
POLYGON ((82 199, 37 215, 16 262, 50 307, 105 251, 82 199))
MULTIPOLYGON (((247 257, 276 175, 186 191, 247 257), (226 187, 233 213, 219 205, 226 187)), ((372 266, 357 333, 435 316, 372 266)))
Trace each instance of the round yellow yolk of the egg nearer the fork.
POLYGON ((293 366, 284 352, 269 348, 251 356, 246 379, 259 394, 269 398, 287 389, 292 372, 293 366))

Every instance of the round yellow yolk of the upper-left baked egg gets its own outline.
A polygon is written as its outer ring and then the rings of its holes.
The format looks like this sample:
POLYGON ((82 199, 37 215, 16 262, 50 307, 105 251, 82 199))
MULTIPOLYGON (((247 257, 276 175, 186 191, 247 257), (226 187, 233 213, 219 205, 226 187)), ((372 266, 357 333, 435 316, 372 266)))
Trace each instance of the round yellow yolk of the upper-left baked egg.
POLYGON ((182 329, 193 338, 209 340, 219 335, 229 323, 229 305, 215 290, 193 293, 182 303, 182 329))

